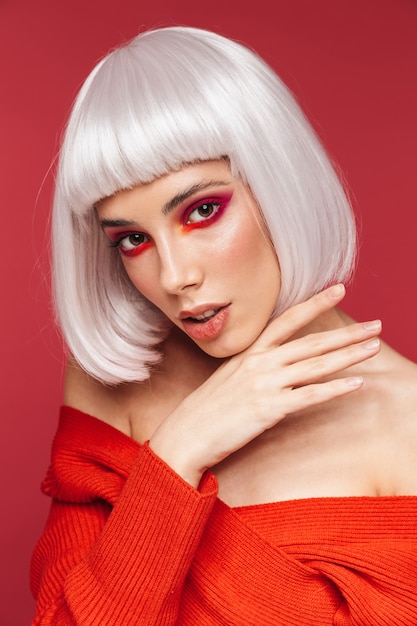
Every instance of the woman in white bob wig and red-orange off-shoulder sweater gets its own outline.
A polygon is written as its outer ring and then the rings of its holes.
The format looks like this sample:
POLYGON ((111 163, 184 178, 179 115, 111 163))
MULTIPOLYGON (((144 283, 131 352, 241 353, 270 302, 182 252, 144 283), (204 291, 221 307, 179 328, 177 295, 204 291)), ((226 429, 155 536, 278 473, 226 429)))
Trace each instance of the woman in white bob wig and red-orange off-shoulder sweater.
POLYGON ((53 220, 33 624, 417 623, 416 366, 338 308, 352 212, 274 72, 192 28, 113 51, 53 220))

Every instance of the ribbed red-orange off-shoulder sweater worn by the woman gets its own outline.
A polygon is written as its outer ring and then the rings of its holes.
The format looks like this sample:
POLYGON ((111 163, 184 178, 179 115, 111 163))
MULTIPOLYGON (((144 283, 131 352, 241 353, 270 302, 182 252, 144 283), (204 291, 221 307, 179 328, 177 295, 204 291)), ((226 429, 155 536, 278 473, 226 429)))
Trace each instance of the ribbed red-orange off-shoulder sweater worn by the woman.
POLYGON ((68 407, 43 490, 32 626, 417 625, 417 497, 232 509, 68 407))

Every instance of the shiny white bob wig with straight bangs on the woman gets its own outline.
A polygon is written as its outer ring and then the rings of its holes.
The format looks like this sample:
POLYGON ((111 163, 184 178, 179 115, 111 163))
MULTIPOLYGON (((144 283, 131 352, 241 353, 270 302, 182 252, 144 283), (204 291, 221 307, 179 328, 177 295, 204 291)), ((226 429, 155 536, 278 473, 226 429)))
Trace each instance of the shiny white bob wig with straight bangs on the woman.
POLYGON ((346 282, 351 207, 288 88, 253 51, 215 33, 166 27, 108 54, 75 101, 52 221, 58 323, 74 358, 109 384, 140 381, 167 333, 133 287, 94 205, 184 164, 227 157, 251 189, 277 252, 279 313, 346 282))

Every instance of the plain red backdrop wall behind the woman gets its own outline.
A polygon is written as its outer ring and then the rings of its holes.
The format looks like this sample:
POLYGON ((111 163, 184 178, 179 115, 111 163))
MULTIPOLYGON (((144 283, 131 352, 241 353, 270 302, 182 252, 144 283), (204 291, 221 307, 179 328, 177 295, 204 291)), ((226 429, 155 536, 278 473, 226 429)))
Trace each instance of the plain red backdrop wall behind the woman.
POLYGON ((187 24, 254 47, 297 94, 346 174, 361 224, 345 302, 379 316, 417 360, 415 0, 0 0, 0 626, 29 624, 31 550, 47 514, 39 483, 60 403, 62 351, 48 292, 50 164, 88 71, 139 29, 187 24))

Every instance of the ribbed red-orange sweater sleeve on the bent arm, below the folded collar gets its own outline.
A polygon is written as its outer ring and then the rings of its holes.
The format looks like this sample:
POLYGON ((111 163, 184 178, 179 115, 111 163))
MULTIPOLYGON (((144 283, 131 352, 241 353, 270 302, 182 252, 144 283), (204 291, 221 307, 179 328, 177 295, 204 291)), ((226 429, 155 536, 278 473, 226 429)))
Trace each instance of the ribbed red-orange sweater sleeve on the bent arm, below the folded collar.
POLYGON ((216 494, 212 474, 195 490, 145 445, 114 506, 55 497, 32 559, 32 626, 175 624, 216 494))

